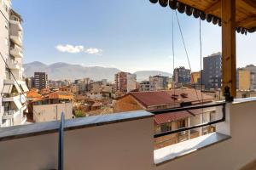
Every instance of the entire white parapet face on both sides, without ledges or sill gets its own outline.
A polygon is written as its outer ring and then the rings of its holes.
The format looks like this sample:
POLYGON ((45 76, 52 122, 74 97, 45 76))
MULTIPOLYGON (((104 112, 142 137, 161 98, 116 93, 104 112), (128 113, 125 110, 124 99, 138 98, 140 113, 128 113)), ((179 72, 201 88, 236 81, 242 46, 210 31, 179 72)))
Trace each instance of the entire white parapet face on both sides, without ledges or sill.
MULTIPOLYGON (((228 106, 227 121, 219 123, 217 131, 230 133, 230 139, 158 166, 153 158, 153 117, 66 131, 65 169, 236 170, 256 159, 255 111, 256 101, 228 106)), ((57 138, 50 133, 0 141, 0 169, 56 167, 57 138)))

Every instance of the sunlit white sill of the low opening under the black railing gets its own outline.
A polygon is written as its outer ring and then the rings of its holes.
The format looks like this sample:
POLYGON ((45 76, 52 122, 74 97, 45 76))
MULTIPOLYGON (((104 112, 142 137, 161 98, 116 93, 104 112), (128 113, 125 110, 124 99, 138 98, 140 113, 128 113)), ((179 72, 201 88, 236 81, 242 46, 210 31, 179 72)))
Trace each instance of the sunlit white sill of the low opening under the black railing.
POLYGON ((201 150, 226 139, 230 139, 230 136, 221 133, 209 133, 195 139, 189 139, 181 143, 172 144, 159 150, 154 150, 154 163, 159 166, 162 163, 189 155, 196 150, 201 150))

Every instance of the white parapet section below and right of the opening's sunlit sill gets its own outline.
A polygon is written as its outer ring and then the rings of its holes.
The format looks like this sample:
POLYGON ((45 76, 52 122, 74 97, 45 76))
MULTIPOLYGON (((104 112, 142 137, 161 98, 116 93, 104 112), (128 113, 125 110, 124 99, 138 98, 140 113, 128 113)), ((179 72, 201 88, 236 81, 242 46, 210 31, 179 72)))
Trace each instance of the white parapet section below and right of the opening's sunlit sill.
POLYGON ((256 159, 255 111, 256 101, 230 105, 227 122, 218 123, 217 131, 230 133, 231 139, 168 161, 155 169, 240 169, 256 159))

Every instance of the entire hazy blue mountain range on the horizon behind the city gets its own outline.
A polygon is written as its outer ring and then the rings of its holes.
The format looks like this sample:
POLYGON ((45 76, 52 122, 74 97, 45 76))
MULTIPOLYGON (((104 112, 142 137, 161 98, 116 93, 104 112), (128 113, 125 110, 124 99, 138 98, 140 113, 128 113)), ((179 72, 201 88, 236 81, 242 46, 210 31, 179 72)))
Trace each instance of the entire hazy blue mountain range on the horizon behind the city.
MULTIPOLYGON (((108 79, 113 82, 114 74, 120 70, 117 68, 108 68, 102 66, 82 66, 71 65, 67 63, 54 63, 51 65, 45 65, 44 63, 34 61, 32 63, 24 64, 24 73, 26 77, 32 77, 34 72, 43 71, 47 72, 50 80, 75 80, 84 77, 90 77, 93 80, 108 79)), ((149 76, 161 75, 166 77, 172 77, 170 73, 163 71, 136 71, 137 81, 148 80, 149 76)))

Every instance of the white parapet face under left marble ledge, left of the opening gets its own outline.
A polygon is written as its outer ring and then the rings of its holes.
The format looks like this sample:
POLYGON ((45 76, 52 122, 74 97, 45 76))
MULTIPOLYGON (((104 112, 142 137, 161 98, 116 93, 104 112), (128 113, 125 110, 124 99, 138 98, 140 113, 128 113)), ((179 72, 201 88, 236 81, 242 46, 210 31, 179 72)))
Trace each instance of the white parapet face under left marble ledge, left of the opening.
MULTIPOLYGON (((153 170, 153 133, 153 117, 65 131, 64 169, 153 170)), ((57 147, 58 133, 1 141, 0 169, 56 168, 57 147)))

